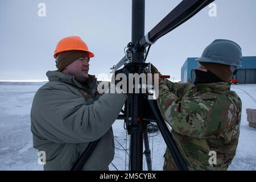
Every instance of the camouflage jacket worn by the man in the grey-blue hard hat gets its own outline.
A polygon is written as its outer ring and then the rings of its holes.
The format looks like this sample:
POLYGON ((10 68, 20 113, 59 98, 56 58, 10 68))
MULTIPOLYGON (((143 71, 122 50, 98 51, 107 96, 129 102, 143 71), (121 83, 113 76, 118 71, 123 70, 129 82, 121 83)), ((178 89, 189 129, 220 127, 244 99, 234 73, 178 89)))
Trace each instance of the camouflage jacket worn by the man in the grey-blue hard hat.
MULTIPOLYGON (((177 84, 164 78, 158 104, 189 170, 229 167, 236 154, 242 107, 230 84, 177 84)), ((164 169, 176 169, 168 150, 164 169)))

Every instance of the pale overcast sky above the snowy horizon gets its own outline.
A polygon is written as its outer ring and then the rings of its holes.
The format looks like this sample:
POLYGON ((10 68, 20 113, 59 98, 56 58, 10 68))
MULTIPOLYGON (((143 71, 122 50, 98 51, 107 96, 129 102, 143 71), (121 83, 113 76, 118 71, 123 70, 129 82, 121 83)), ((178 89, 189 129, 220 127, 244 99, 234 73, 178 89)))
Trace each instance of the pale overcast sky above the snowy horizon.
MULTIPOLYGON (((145 33, 181 0, 146 0, 145 33)), ((217 17, 201 10, 150 49, 147 61, 180 80, 187 57, 199 57, 214 39, 230 39, 243 56, 256 56, 256 1, 216 0, 217 17)), ((90 74, 109 73, 131 41, 131 0, 1 0, 0 80, 47 80, 55 70, 53 51, 65 36, 80 36, 94 53, 90 74), (38 16, 39 3, 46 16, 38 16)))

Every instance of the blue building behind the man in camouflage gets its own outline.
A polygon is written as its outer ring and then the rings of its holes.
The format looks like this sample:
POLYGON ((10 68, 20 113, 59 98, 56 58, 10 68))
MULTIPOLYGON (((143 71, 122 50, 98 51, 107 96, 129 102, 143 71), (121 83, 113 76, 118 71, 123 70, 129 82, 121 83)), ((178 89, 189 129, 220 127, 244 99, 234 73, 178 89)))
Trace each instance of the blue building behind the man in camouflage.
MULTIPOLYGON (((195 69, 199 66, 197 57, 188 57, 181 67, 181 82, 195 80, 195 69)), ((237 75, 240 84, 256 84, 256 56, 242 57, 242 67, 237 67, 237 75)))

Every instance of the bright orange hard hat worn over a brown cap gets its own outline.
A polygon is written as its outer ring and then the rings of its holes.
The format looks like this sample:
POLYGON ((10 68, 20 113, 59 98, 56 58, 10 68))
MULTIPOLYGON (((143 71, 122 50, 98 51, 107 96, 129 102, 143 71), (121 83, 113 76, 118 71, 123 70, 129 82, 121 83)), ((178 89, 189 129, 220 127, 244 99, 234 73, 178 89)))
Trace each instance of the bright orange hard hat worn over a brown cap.
POLYGON ((64 51, 86 51, 89 57, 94 57, 94 54, 89 51, 87 45, 79 36, 68 36, 57 43, 53 57, 56 59, 57 54, 64 51))

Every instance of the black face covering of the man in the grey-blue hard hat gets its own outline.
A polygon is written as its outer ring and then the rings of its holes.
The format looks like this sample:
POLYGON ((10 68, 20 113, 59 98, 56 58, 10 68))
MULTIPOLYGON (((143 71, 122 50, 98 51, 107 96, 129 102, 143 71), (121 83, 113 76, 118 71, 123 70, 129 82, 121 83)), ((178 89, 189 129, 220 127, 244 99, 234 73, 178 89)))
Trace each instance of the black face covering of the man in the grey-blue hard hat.
POLYGON ((220 78, 215 76, 213 73, 207 71, 201 71, 201 70, 195 70, 196 73, 196 79, 194 81, 194 84, 210 84, 215 82, 222 82, 220 78))

